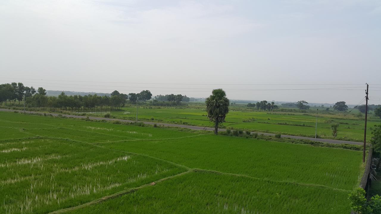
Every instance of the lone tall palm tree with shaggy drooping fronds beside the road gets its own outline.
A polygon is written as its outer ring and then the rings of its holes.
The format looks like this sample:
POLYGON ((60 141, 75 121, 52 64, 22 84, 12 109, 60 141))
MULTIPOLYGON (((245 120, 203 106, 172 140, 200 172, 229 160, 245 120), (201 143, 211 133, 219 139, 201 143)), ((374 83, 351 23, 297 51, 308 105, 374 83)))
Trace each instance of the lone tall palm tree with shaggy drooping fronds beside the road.
POLYGON ((215 134, 218 132, 218 125, 225 120, 229 112, 229 99, 223 89, 214 89, 212 94, 205 99, 207 105, 208 118, 215 123, 215 134))

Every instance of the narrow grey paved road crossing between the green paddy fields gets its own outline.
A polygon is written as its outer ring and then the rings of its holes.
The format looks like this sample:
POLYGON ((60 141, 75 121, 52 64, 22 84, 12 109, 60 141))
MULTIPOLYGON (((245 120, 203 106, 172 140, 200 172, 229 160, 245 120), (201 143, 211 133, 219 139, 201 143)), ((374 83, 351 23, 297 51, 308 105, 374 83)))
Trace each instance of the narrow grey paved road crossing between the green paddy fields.
MULTIPOLYGON (((23 112, 23 110, 11 110, 11 109, 0 109, 0 111, 2 112, 14 112, 14 111, 18 111, 18 112, 23 112)), ((26 113, 43 113, 43 112, 32 112, 32 111, 25 111, 26 113)), ((53 116, 58 116, 58 113, 49 113, 53 116)), ((66 117, 72 117, 72 118, 86 118, 86 116, 78 116, 78 115, 65 115, 65 114, 61 114, 62 116, 66 116, 66 117)), ((134 122, 135 120, 122 120, 122 119, 115 119, 115 118, 104 118, 104 117, 89 117, 89 119, 91 120, 120 120, 120 121, 123 121, 123 122, 128 122, 128 123, 131 123, 131 122, 134 122)), ((145 124, 149 124, 149 125, 154 125, 155 123, 154 122, 147 122, 147 121, 138 121, 138 122, 142 122, 142 123, 145 123, 145 124)), ((157 125, 163 125, 163 126, 171 126, 171 127, 181 127, 181 128, 187 128, 187 129, 194 129, 194 130, 207 130, 207 131, 214 131, 214 128, 210 128, 210 127, 202 127, 202 126, 188 126, 188 125, 181 125, 181 124, 170 124, 170 123, 156 123, 157 125)), ((219 129, 220 131, 226 131, 226 129, 219 129)), ((251 133, 254 133, 254 132, 251 132, 251 133)), ((262 133, 262 132, 257 132, 258 134, 264 134, 264 135, 267 135, 267 136, 274 136, 275 134, 273 133, 262 133)), ((302 137, 302 136, 293 136, 293 135, 286 135, 286 134, 282 134, 282 137, 289 137, 289 138, 293 138, 293 139, 306 139, 306 140, 311 140, 311 141, 315 141, 315 138, 313 137, 302 137)), ((333 140, 333 139, 321 139, 321 138, 318 138, 316 139, 317 142, 323 142, 323 143, 330 143, 330 144, 354 144, 354 145, 363 145, 362 142, 356 142, 356 141, 339 141, 339 140, 333 140)))

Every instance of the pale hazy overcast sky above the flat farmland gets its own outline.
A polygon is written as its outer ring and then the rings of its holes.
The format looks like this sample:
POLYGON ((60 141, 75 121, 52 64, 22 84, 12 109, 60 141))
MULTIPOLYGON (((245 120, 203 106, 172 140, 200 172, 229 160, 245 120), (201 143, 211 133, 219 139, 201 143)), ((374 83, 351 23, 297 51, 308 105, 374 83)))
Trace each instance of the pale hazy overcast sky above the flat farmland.
POLYGON ((349 104, 370 83, 381 104, 381 1, 1 0, 0 73, 52 90, 349 104), (267 85, 328 83, 361 85, 267 85), (342 87, 361 88, 243 91, 342 87))

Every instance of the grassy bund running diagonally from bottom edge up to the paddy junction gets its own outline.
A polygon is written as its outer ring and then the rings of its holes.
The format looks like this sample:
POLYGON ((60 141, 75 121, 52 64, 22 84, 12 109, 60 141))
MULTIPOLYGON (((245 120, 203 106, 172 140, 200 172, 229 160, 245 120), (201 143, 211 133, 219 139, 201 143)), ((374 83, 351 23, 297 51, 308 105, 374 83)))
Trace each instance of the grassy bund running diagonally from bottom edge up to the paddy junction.
MULTIPOLYGON (((163 182, 163 181, 168 180, 168 179, 171 179, 171 178, 173 178, 173 177, 182 176, 182 175, 187 174, 187 173, 190 173, 190 172, 194 172, 194 170, 189 169, 188 171, 181 172, 181 173, 176 174, 176 175, 173 175, 173 176, 164 177, 164 178, 161 178, 161 179, 159 179, 159 180, 154 181, 154 183, 163 182)), ((72 211, 72 210, 75 210, 75 209, 80 209, 80 208, 83 208, 83 207, 86 207, 86 206, 90 206, 90 205, 92 205, 92 204, 97 204, 97 203, 100 203, 100 202, 103 202, 103 201, 106 201, 106 200, 109 200, 109 199, 112 199, 112 198, 116 198, 116 197, 121 196, 121 195, 125 195, 125 194, 128 194, 128 193, 135 192, 136 190, 139 190, 139 189, 141 189, 141 188, 150 186, 151 184, 152 184, 152 183, 144 184, 144 185, 141 185, 141 186, 139 186, 139 187, 129 188, 129 189, 127 189, 127 190, 123 190, 123 191, 114 193, 114 194, 112 194, 112 195, 103 196, 102 198, 98 198, 98 199, 96 199, 96 200, 94 200, 94 201, 90 201, 90 202, 87 202, 87 203, 84 203, 84 204, 80 204, 80 205, 78 205, 78 206, 74 206, 74 207, 69 207, 69 208, 59 209, 59 210, 56 210, 56 211, 53 211, 53 212, 49 212, 48 214, 59 214, 59 213, 64 213, 64 212, 66 212, 66 211, 72 211)))

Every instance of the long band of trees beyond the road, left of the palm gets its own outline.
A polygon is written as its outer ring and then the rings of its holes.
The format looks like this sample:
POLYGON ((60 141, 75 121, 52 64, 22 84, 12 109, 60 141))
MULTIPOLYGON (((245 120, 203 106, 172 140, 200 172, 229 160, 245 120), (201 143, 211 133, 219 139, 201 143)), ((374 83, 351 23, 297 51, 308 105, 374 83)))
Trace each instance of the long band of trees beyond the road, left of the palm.
MULTIPOLYGON (((21 101, 25 100, 27 107, 43 107, 46 109, 117 109, 125 106, 128 99, 130 103, 136 103, 137 101, 146 102, 152 99, 152 93, 149 90, 143 90, 140 93, 123 94, 115 90, 110 96, 98 96, 97 94, 67 96, 64 92, 61 92, 61 94, 56 97, 46 96, 46 90, 42 87, 36 91, 33 86, 27 87, 24 86, 23 83, 6 83, 0 85, 0 105, 20 104, 21 101)), ((170 105, 179 105, 180 102, 190 101, 189 97, 186 95, 182 96, 181 94, 158 95, 155 99, 169 102, 170 105)))

